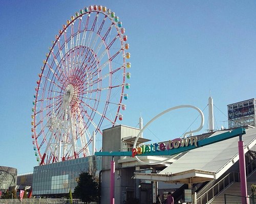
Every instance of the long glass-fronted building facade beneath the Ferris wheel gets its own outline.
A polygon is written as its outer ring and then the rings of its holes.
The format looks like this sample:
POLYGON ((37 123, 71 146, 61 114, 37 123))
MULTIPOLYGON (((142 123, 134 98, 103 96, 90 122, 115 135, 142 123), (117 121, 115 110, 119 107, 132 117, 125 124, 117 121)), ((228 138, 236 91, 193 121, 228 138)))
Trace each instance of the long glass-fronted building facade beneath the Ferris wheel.
POLYGON ((35 166, 33 172, 33 196, 63 197, 72 193, 81 172, 101 170, 101 157, 90 156, 74 160, 35 166))

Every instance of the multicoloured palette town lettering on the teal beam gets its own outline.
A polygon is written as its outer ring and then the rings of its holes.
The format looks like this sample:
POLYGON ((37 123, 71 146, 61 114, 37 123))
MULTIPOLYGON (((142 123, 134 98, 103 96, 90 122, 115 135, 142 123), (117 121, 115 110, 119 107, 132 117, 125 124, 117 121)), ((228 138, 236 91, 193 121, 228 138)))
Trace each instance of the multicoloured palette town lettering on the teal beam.
POLYGON ((132 157, 136 155, 146 155, 150 152, 156 151, 165 151, 170 149, 176 149, 179 147, 194 145, 197 147, 197 137, 189 137, 189 138, 176 138, 174 140, 169 140, 168 142, 154 143, 148 145, 141 145, 132 149, 132 157))

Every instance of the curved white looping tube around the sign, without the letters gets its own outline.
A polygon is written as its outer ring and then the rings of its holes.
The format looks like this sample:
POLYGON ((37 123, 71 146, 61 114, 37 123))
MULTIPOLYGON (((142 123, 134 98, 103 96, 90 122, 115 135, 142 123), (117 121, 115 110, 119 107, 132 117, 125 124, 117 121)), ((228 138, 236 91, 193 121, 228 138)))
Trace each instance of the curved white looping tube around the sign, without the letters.
MULTIPOLYGON (((195 133, 195 132, 200 131, 200 130, 203 128, 203 125, 204 125, 204 114, 203 114, 203 112, 202 112, 199 108, 197 108, 197 107, 195 107, 195 106, 191 106, 191 105, 175 106, 175 107, 173 107, 173 108, 166 109, 165 111, 159 113, 157 116, 155 116, 154 118, 152 118, 148 123, 146 123, 146 125, 143 127, 143 129, 141 129, 141 131, 140 131, 139 134, 137 135, 137 137, 136 137, 136 139, 135 139, 135 141, 134 141, 134 144, 133 144, 133 148, 136 148, 136 144, 137 144, 138 139, 141 137, 142 132, 146 129, 146 127, 147 127, 148 125, 150 125, 154 120, 156 120, 157 118, 159 118, 159 117, 162 116, 163 114, 165 114, 165 113, 167 113, 167 112, 170 112, 170 111, 173 111, 173 110, 176 110, 176 109, 180 109, 180 108, 193 108, 193 109, 197 110, 197 111, 200 113, 200 116, 201 116, 201 124, 200 124, 200 126, 198 127, 198 129, 197 129, 197 130, 194 130, 194 131, 189 131, 189 132, 184 133, 184 134, 183 134, 183 138, 185 138, 186 135, 189 134, 189 133, 195 133)), ((135 158, 136 158, 136 160, 137 160, 138 162, 140 162, 140 163, 150 164, 150 165, 160 164, 160 163, 163 163, 163 162, 166 162, 166 161, 170 160, 170 159, 168 158, 168 159, 163 160, 163 161, 161 161, 161 162, 146 163, 146 162, 141 161, 137 156, 135 156, 135 158)))

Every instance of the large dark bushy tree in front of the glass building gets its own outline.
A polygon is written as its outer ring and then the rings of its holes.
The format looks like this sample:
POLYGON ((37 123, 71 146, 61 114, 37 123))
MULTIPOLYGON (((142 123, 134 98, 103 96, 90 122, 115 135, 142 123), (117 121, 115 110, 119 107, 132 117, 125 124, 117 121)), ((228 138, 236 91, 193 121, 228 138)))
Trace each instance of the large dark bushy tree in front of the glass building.
POLYGON ((77 180, 74 195, 84 203, 90 203, 98 200, 98 189, 98 183, 95 181, 94 177, 88 172, 82 172, 77 180))

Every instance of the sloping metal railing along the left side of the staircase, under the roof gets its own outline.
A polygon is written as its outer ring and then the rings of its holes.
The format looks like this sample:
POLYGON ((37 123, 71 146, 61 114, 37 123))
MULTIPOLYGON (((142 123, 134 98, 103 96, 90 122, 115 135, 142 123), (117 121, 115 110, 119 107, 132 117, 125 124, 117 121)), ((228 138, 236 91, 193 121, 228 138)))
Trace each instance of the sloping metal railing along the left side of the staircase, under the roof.
POLYGON ((210 200, 214 199, 219 195, 225 188, 227 188, 233 182, 240 182, 239 172, 230 172, 223 179, 221 179, 217 184, 212 186, 203 195, 197 198, 198 204, 206 204, 210 200))

